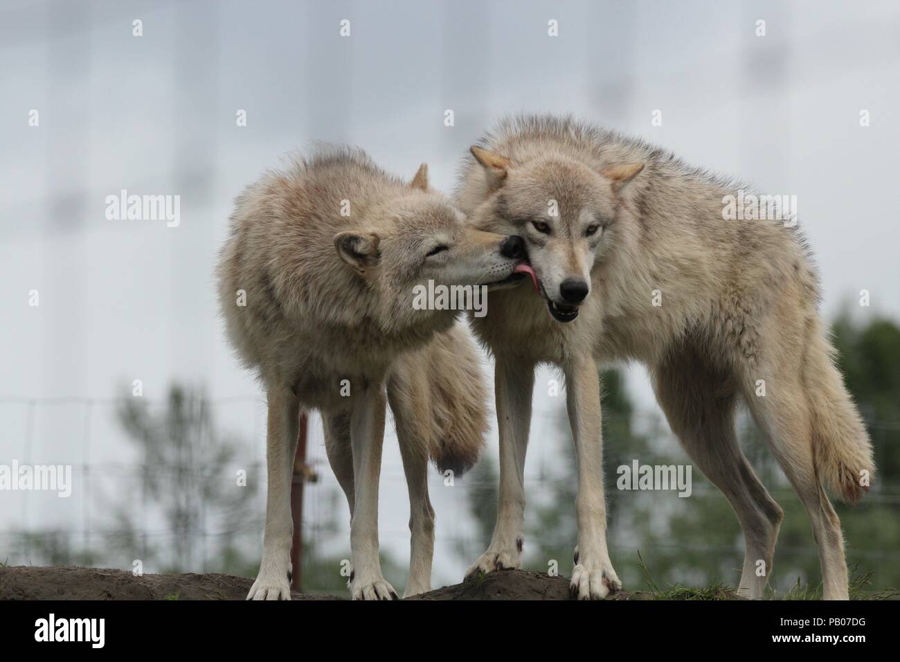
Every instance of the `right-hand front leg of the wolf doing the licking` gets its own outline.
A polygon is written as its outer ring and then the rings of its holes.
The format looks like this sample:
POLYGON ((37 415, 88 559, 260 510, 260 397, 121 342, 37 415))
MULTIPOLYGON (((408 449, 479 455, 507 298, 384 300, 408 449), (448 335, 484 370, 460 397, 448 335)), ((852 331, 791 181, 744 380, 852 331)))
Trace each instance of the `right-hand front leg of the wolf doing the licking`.
POLYGON ((393 586, 384 581, 378 560, 378 478, 382 471, 384 386, 368 385, 356 394, 350 417, 353 447, 354 509, 350 520, 350 552, 354 600, 396 600, 393 586))

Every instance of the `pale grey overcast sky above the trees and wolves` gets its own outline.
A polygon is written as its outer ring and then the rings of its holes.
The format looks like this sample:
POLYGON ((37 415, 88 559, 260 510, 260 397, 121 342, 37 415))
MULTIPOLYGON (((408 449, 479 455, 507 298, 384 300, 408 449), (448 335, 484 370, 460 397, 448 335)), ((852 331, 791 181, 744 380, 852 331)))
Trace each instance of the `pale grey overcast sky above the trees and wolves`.
MULTIPOLYGON (((173 380, 220 403, 246 396, 217 407, 217 421, 255 434, 263 456, 261 394, 224 342, 211 271, 234 196, 313 140, 363 147, 405 177, 426 160, 433 186, 449 192, 458 160, 500 115, 574 113, 797 195, 825 315, 847 306, 861 320, 900 317, 896 2, 8 0, 0 56, 0 462, 26 461, 27 439, 33 462, 78 463, 85 435, 90 461, 127 458, 108 406, 85 432, 83 406, 46 400, 108 398, 138 378, 148 400, 173 380), (121 189, 180 195, 180 225, 107 220, 105 198, 121 189), (862 289, 869 308, 857 303, 862 289), (34 418, 16 398, 40 401, 34 418)), ((562 404, 542 397, 545 377, 529 475, 555 452, 547 437, 562 404)), ((629 378, 639 406, 655 411, 643 370, 629 378)), ((319 469, 333 485, 327 464, 319 469)), ((383 474, 383 546, 405 563, 392 435, 383 474)), ((464 561, 448 539, 471 522, 433 477, 439 584, 459 578, 464 561)), ((10 506, 0 531, 83 523, 83 495, 35 497, 26 508, 0 494, 10 506)))

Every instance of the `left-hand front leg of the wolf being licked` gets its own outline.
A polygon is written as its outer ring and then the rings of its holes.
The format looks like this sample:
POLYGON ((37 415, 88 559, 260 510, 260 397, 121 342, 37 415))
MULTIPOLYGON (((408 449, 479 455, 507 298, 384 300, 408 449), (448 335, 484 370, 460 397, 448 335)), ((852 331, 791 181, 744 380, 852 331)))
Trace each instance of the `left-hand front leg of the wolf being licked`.
POLYGON ((491 545, 465 576, 522 567, 525 544, 525 454, 531 427, 535 366, 517 357, 497 355, 494 391, 500 431, 500 501, 491 545))

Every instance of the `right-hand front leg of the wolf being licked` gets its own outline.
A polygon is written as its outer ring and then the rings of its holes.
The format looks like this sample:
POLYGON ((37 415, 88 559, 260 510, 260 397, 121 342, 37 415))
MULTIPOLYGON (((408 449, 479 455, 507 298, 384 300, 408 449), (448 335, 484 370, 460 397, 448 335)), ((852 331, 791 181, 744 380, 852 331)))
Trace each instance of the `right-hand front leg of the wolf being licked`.
POLYGON ((622 587, 607 549, 607 504, 603 494, 603 443, 600 429, 600 383, 590 356, 573 358, 564 367, 566 406, 578 463, 578 547, 572 568, 572 594, 600 600, 622 587))

